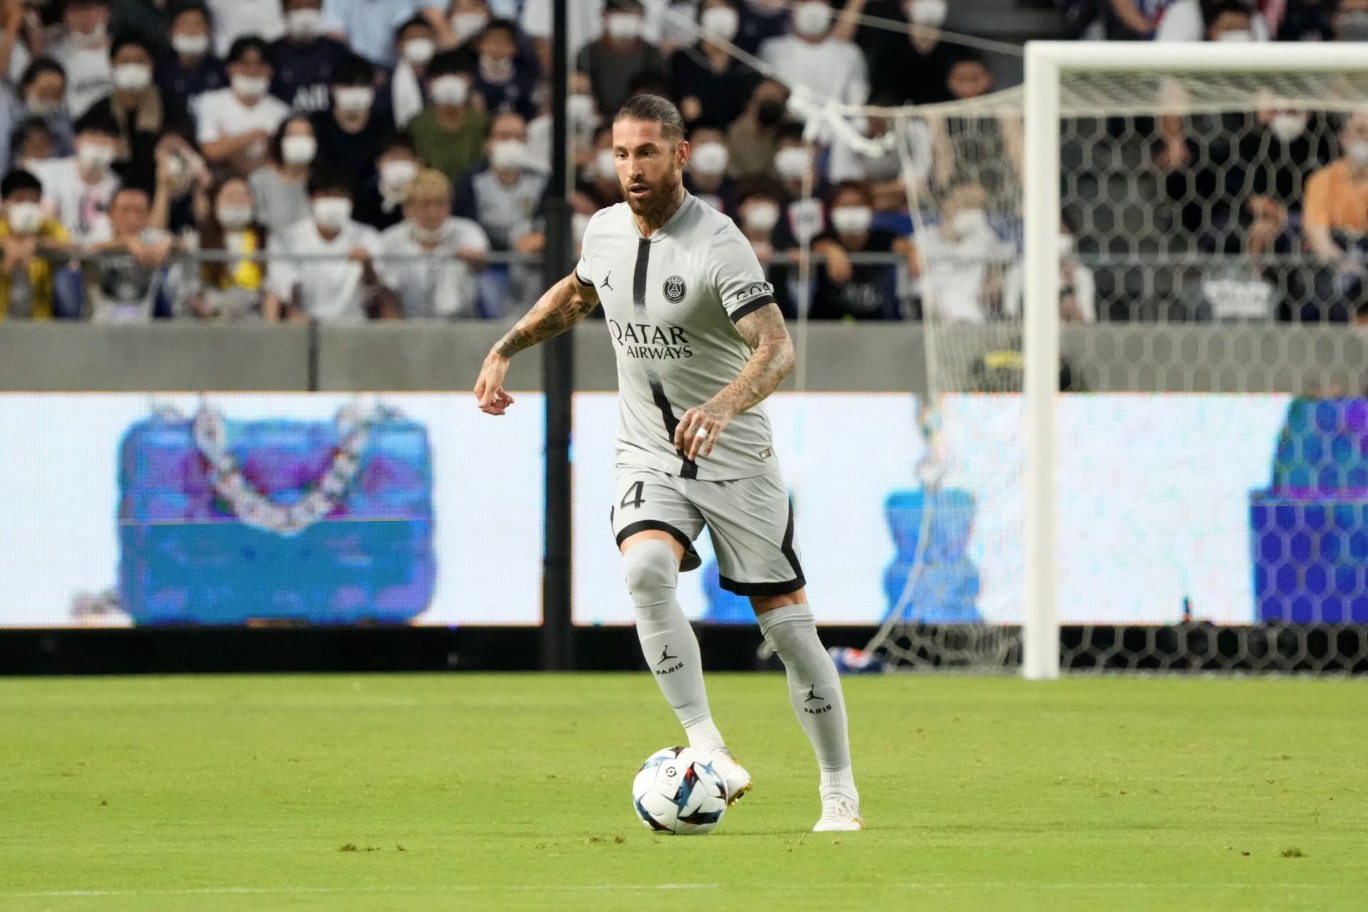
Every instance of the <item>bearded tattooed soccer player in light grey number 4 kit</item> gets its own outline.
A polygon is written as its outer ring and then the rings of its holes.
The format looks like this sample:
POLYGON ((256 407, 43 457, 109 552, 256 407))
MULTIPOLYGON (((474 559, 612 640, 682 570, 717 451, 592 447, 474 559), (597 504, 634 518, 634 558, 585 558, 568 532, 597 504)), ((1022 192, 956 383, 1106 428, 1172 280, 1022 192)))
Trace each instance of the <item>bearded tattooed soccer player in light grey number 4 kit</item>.
POLYGON ((793 509, 759 407, 792 371, 793 343, 740 228, 685 193, 688 157, 673 104, 628 100, 613 122, 625 202, 594 215, 575 272, 490 350, 475 395, 503 414, 509 358, 603 305, 620 392, 613 532, 655 681, 736 801, 751 777, 713 723, 698 640, 674 598, 680 572, 700 563, 694 539, 707 524, 721 584, 750 596, 817 752, 813 829, 860 830, 841 684, 807 606, 793 509))

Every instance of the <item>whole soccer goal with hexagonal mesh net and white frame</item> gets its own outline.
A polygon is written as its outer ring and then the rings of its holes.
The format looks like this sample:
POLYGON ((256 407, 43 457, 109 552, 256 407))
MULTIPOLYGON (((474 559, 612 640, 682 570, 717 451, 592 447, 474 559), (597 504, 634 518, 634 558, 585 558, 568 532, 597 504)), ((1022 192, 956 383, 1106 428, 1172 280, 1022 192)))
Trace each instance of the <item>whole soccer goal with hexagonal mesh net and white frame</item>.
POLYGON ((919 260, 888 665, 1368 666, 1349 57, 1045 44, 1021 90, 843 112, 897 157, 919 260))

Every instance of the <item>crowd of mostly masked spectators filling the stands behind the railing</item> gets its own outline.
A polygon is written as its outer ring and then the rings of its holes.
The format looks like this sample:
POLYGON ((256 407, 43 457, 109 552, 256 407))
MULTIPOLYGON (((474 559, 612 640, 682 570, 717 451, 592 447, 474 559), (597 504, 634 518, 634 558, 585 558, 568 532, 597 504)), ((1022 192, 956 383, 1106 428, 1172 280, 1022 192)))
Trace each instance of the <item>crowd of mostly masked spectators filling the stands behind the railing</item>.
MULTIPOLYGON (((1079 37, 1368 37, 1368 0, 1063 5, 1079 37)), ((688 124, 687 186, 737 220, 788 314, 807 298, 813 319, 915 319, 923 289, 953 317, 984 320, 1010 306, 1011 269, 989 295, 986 267, 956 265, 956 256, 1016 257, 989 220, 1000 190, 990 174, 929 176, 944 193, 933 228, 914 239, 899 157, 860 155, 822 134, 808 142, 785 88, 878 105, 992 92, 985 59, 943 40, 949 0, 569 7, 576 238, 595 211, 621 200, 613 112, 653 92, 673 98, 688 124), (707 34, 757 55, 780 79, 707 34), (798 294, 793 257, 803 243, 819 257, 807 295, 798 294), (918 249, 956 256, 923 273, 929 257, 918 249)), ((521 310, 540 286, 550 18, 549 0, 0 0, 0 319, 363 321, 521 310)), ((1260 118, 1280 141, 1304 142, 1294 113, 1260 118)), ((871 118, 867 129, 877 135, 889 124, 871 118)), ((1004 122, 978 137, 989 148, 970 152, 1019 167, 1016 131, 1004 122)), ((1182 119, 1166 119, 1160 133, 1157 161, 1175 186, 1215 179, 1193 163, 1182 119)), ((956 138, 914 137, 929 175, 930 149, 947 139, 956 138)), ((1324 168, 1305 182, 1291 175, 1233 213, 1245 228, 1239 245, 1257 253, 1304 237, 1330 258, 1347 232, 1368 232, 1368 122, 1350 120, 1342 144, 1309 148, 1301 160, 1324 168), (1343 157, 1332 157, 1341 145, 1343 157)), ((1092 273, 1073 256, 1068 216, 1062 313, 1090 321, 1092 273)), ((1356 313, 1346 282, 1328 280, 1324 294, 1356 313)))

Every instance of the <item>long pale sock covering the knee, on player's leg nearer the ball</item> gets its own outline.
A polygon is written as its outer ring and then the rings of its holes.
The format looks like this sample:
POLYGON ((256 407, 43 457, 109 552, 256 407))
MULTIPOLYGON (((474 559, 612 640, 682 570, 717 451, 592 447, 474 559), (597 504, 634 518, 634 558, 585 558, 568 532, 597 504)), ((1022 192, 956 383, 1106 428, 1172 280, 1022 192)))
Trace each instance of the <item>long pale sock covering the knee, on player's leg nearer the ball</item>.
POLYGON ((689 747, 710 749, 714 742, 721 747, 722 736, 707 708, 698 639, 674 598, 679 581, 674 551, 657 539, 639 541, 622 555, 622 569, 636 606, 636 639, 646 665, 684 725, 689 747))

